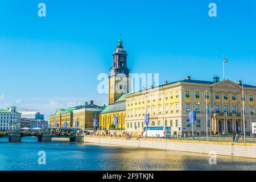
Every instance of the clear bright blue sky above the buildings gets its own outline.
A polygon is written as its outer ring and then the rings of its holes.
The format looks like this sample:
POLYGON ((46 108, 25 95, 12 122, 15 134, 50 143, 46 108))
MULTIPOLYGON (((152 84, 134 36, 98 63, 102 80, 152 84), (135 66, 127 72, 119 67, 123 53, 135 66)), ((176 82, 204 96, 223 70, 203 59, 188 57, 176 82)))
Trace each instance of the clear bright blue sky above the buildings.
POLYGON ((0 1, 0 109, 14 104, 48 118, 58 107, 106 103, 97 76, 109 73, 119 34, 133 73, 159 73, 160 83, 212 80, 222 77, 225 55, 227 79, 256 85, 255 9, 254 0, 0 1))

